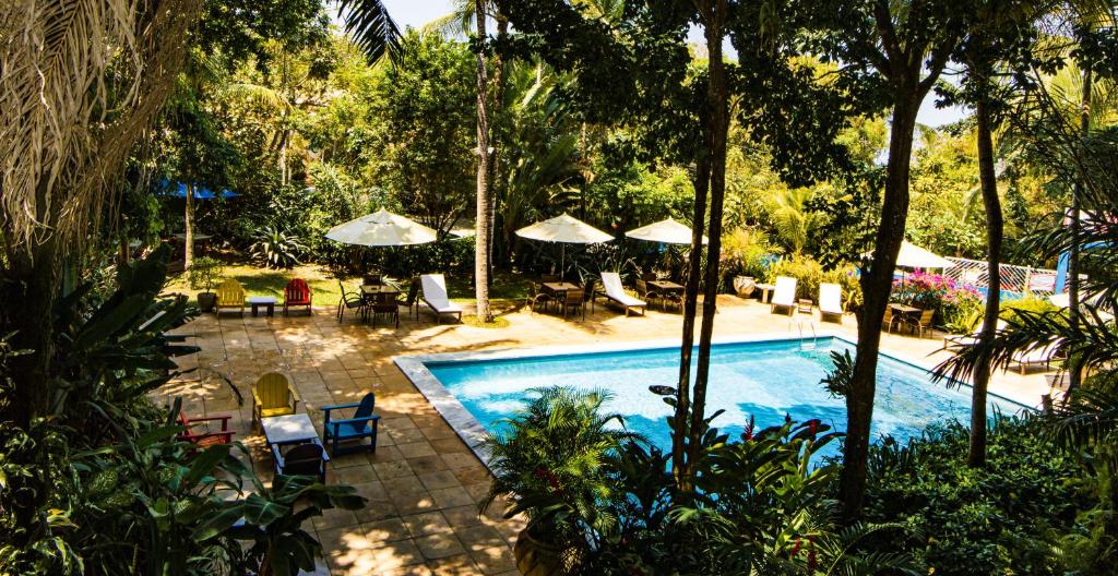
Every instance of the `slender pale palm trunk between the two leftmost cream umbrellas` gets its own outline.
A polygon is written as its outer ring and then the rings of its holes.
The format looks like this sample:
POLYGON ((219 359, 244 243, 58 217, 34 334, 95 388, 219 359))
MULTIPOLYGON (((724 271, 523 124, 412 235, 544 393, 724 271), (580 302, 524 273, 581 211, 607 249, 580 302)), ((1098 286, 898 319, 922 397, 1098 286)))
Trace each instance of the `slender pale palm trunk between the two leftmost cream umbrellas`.
MULTIPOLYGON (((477 39, 485 41, 485 2, 475 0, 477 39)), ((482 321, 493 321, 489 301, 489 258, 493 222, 491 220, 492 198, 489 193, 489 111, 485 107, 489 81, 485 70, 485 52, 477 52, 477 228, 474 236, 474 296, 477 300, 477 317, 482 321)))

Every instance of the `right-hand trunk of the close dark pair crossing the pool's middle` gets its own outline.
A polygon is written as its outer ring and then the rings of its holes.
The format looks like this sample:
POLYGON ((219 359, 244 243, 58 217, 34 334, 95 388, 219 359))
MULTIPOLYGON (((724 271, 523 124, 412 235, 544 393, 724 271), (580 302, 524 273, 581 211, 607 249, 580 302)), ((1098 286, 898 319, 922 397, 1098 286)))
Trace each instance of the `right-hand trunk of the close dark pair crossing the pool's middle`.
MULTIPOLYGON (((719 265, 721 263, 722 208, 726 196, 726 141, 730 127, 726 64, 722 61, 722 26, 727 1, 713 0, 705 18, 707 50, 710 55, 707 85, 710 123, 710 241, 707 244, 707 270, 703 279, 702 326, 699 329, 699 358, 691 399, 691 431, 688 438, 688 472, 693 479, 694 464, 702 451, 703 419, 707 409, 707 383, 710 377, 710 348, 718 307, 719 265)), ((701 239, 700 239, 701 242, 701 239)))

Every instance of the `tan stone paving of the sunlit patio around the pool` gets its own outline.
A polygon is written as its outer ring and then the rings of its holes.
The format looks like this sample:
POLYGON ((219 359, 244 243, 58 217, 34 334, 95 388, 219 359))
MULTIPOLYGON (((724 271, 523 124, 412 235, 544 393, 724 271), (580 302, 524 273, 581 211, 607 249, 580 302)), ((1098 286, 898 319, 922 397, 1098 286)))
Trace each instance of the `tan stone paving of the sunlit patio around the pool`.
MULTIPOLYGON (((600 304, 588 310, 585 321, 527 309, 510 311, 504 315, 510 327, 501 329, 436 325, 427 311, 416 320, 402 309, 400 327, 394 329, 361 324, 352 315, 339 324, 333 313, 318 308, 310 317, 199 317, 178 330, 201 347, 182 359, 184 368, 198 369, 159 391, 161 401, 182 397, 188 415, 233 414, 235 438, 249 449, 257 474, 266 480, 272 458, 263 436, 249 430, 252 384, 260 374, 277 371, 292 378, 303 400, 299 410, 311 416, 320 434, 321 406, 357 402, 370 391, 377 394, 382 420, 376 454, 338 457, 326 476, 328 482, 356 487, 369 505, 313 519, 310 528, 322 543, 328 564, 320 567, 321 574, 517 574, 511 547, 522 521, 503 519, 502 502, 477 513, 477 501, 489 489, 489 471, 400 373, 394 356, 636 342, 679 337, 680 330, 679 313, 653 310, 646 317, 626 318, 600 304)), ((821 330, 852 339, 855 335, 852 316, 841 326, 821 324, 817 313, 812 319, 821 330)), ((769 314, 767 305, 719 297, 717 335, 796 329, 787 316, 769 314)), ((941 338, 882 335, 883 351, 922 366, 946 357, 947 353, 937 352, 941 345, 941 338)), ((1031 405, 1049 392, 1039 373, 997 373, 991 388, 1031 405)))

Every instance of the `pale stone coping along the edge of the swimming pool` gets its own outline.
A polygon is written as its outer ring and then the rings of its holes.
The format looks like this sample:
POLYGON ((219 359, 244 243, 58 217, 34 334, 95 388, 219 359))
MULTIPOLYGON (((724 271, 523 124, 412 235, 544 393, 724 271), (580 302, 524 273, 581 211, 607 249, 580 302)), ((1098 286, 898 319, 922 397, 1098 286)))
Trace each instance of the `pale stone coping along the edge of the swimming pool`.
MULTIPOLYGON (((813 335, 812 340, 814 342, 822 338, 833 338, 842 340, 851 346, 856 346, 854 340, 851 340, 845 335, 834 330, 821 330, 819 333, 813 335)), ((711 339, 711 344, 760 344, 766 342, 805 342, 807 339, 807 337, 789 335, 788 333, 764 333, 716 336, 711 339)), ((698 340, 695 342, 695 345, 698 345, 698 340)), ((492 454, 485 450, 483 443, 489 432, 485 430, 485 426, 477 421, 473 413, 466 410, 466 407, 462 405, 462 402, 459 402, 458 399, 452 394, 437 377, 435 377, 430 369, 427 368, 427 363, 514 359, 523 357, 567 356, 587 353, 608 354, 612 352, 678 348, 679 346, 680 340, 678 338, 657 338, 652 340, 629 340, 618 343, 556 344, 529 348, 506 347, 471 352, 408 354, 394 356, 392 362, 400 369, 400 372, 404 373, 408 381, 410 381, 411 384, 419 391, 419 393, 427 399, 427 402, 435 406, 435 410, 443 416, 444 420, 446 420, 446 423, 451 425, 451 429, 454 430, 455 434, 458 435, 466 447, 470 448, 470 451, 473 452, 474 455, 477 457, 483 464, 485 464, 485 468, 489 469, 492 454)), ((932 372, 935 367, 935 365, 922 365, 918 362, 901 358, 896 354, 880 349, 878 351, 878 355, 885 356, 894 362, 899 362, 925 372, 932 372)), ((959 382, 959 385, 973 387, 969 382, 959 382)), ((987 391, 987 396, 1003 400, 1025 410, 1036 410, 1035 406, 1030 406, 1024 402, 1020 402, 994 392, 987 391)))

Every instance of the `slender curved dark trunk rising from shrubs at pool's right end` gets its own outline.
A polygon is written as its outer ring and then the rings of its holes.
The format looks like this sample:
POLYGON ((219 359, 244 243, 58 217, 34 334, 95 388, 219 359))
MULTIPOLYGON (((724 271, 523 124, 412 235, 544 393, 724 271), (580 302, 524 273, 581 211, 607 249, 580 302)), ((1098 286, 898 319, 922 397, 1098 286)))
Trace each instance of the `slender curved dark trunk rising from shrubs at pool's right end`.
MULTIPOLYGON (((1002 201, 997 198, 997 175, 994 173, 994 143, 989 108, 980 99, 975 104, 978 121, 978 180, 982 183, 983 205, 986 209, 986 267, 989 278, 986 290, 986 313, 978 338, 988 343, 997 330, 997 313, 1002 303, 1002 201)), ((974 386, 970 388, 970 448, 967 464, 986 465, 986 390, 989 385, 991 356, 983 354, 975 365, 974 386)))

